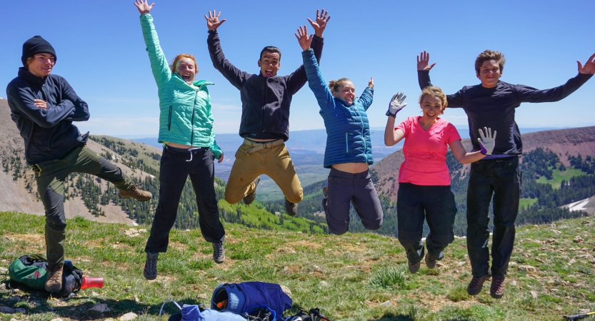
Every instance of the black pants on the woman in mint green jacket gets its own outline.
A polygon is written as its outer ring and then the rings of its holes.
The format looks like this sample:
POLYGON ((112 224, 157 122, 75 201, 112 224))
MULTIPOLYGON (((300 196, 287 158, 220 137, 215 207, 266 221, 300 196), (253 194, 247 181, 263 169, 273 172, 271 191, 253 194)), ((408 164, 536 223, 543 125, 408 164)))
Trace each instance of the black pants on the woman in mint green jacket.
POLYGON ((225 230, 219 221, 219 208, 215 197, 213 160, 210 148, 200 148, 191 152, 181 148, 164 148, 159 173, 159 204, 151 226, 151 235, 146 241, 145 252, 166 252, 169 231, 176 222, 180 196, 188 175, 196 194, 203 238, 211 243, 224 240, 225 230))

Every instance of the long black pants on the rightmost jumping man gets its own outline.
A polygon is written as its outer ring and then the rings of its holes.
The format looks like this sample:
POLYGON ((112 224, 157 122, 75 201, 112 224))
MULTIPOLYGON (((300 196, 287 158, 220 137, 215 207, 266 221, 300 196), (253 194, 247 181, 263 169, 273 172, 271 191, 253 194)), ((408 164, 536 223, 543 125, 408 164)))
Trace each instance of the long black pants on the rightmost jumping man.
POLYGON ((494 237, 491 275, 506 276, 514 245, 514 222, 519 214, 521 170, 519 157, 496 158, 471 164, 467 189, 467 250, 474 277, 489 274, 489 203, 494 195, 494 237))

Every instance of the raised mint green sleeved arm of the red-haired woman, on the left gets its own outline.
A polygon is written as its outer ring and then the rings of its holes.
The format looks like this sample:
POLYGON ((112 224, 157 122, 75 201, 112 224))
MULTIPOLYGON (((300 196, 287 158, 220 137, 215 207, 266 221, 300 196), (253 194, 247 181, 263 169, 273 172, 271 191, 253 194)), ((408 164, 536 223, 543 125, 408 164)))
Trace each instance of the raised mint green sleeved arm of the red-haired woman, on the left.
POLYGON ((159 87, 171 79, 171 69, 169 68, 163 50, 161 50, 157 31, 153 24, 153 17, 149 14, 154 4, 149 5, 146 0, 136 0, 134 6, 136 6, 136 9, 139 9, 139 13, 141 14, 141 29, 143 31, 146 52, 149 53, 151 71, 159 87))

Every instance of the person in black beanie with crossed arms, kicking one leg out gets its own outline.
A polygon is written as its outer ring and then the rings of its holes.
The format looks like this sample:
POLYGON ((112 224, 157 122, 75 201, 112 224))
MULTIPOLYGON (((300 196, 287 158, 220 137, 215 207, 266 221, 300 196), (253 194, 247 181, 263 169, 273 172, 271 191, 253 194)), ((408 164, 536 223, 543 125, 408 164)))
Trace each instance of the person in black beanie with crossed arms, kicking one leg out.
POLYGON ((50 74, 56 63, 51 44, 34 36, 23 44, 21 61, 23 67, 6 87, 6 96, 46 211, 49 267, 45 290, 58 292, 62 287, 66 239, 66 177, 75 172, 96 175, 119 188, 121 198, 145 201, 151 199, 151 193, 136 188, 120 168, 86 148, 89 133, 81 135, 72 122, 89 120, 89 108, 64 78, 50 74))

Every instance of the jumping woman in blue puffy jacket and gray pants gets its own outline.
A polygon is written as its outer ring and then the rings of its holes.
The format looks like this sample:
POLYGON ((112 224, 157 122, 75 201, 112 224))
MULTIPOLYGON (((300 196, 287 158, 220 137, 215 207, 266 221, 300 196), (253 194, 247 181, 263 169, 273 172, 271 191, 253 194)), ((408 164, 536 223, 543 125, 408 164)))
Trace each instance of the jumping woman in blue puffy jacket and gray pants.
POLYGON ((345 233, 349 229, 351 203, 364 227, 378 230, 384 214, 369 172, 369 165, 374 161, 366 115, 374 96, 374 79, 370 79, 359 98, 355 96, 354 84, 347 78, 330 81, 326 86, 314 51, 310 49, 311 36, 306 26, 300 26, 296 38, 304 50, 302 57, 308 84, 326 127, 324 167, 331 168, 329 185, 323 188, 326 223, 332 233, 345 233))

